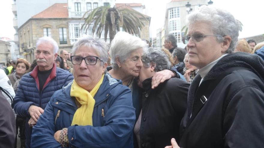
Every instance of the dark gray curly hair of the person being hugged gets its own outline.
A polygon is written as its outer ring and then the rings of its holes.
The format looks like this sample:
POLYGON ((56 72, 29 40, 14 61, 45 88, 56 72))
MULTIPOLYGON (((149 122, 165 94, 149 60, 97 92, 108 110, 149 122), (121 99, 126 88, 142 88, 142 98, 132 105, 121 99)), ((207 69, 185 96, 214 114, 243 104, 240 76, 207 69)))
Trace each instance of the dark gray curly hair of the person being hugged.
POLYGON ((162 71, 170 68, 170 60, 168 55, 158 48, 149 48, 142 56, 144 67, 150 67, 151 62, 156 64, 155 72, 162 71))

